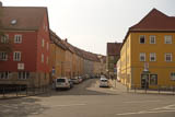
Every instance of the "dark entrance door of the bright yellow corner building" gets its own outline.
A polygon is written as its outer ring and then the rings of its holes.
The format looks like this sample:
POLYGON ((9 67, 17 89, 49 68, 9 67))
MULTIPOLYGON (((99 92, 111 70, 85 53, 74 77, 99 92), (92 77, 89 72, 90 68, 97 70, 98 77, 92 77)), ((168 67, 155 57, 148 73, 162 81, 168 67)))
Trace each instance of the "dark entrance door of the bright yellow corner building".
POLYGON ((149 74, 141 74, 141 89, 149 87, 149 74))

